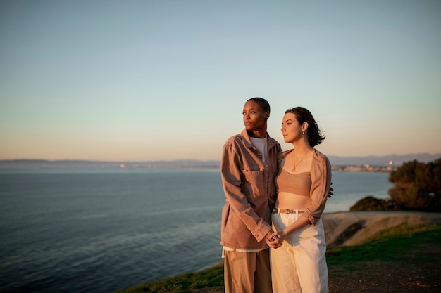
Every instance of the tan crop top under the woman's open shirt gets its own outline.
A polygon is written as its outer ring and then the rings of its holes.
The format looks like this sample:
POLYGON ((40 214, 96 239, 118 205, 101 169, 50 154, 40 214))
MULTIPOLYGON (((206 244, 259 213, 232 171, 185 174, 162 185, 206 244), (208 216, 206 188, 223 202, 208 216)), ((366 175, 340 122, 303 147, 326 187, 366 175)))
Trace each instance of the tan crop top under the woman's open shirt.
POLYGON ((294 193, 296 195, 310 196, 311 193, 311 173, 302 172, 292 174, 282 169, 280 174, 275 178, 275 185, 278 192, 294 193))

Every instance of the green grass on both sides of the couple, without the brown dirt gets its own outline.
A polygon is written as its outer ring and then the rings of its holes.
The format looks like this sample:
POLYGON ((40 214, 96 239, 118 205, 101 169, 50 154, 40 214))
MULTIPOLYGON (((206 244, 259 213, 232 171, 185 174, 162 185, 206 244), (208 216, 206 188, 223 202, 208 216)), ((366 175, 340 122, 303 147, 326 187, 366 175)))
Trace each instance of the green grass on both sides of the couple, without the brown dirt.
MULTIPOLYGON (((423 264, 440 259, 439 255, 418 254, 418 257, 402 257, 418 245, 441 243, 441 226, 404 224, 369 238, 363 245, 329 247, 326 259, 332 271, 352 270, 364 261, 396 261, 423 264)), ((362 266, 361 266, 362 267, 362 266)), ((119 290, 117 293, 186 293, 201 288, 223 288, 223 264, 197 273, 186 273, 159 282, 142 284, 137 287, 119 290)))

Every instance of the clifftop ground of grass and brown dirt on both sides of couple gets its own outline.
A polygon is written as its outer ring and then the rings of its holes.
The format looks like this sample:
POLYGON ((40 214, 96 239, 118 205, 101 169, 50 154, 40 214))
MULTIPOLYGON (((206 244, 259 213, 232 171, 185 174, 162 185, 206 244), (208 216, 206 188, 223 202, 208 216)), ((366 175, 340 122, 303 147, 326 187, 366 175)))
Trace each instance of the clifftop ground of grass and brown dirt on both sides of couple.
MULTIPOLYGON (((330 292, 434 292, 441 289, 441 226, 405 223, 362 245, 329 247, 327 260, 330 292)), ((223 292, 223 265, 118 291, 140 292, 223 292)))

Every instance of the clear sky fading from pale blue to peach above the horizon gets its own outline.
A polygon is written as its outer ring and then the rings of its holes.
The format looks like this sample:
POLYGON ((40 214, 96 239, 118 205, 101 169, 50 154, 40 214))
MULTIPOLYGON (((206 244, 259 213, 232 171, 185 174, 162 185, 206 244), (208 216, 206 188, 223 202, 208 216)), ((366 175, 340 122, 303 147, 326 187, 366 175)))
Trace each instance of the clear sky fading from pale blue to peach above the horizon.
POLYGON ((441 153, 441 1, 0 0, 0 159, 219 160, 253 97, 340 157, 441 153))

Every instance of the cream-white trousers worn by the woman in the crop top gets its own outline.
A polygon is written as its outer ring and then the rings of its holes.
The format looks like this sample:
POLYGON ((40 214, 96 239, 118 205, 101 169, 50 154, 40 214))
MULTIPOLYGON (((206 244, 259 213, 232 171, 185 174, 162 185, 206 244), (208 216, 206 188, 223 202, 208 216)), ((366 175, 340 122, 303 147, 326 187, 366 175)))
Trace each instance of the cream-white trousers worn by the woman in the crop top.
MULTIPOLYGON (((273 229, 282 230, 299 219, 297 214, 273 214, 273 229)), ((328 266, 323 223, 307 225, 271 249, 274 293, 328 293, 328 266)))

